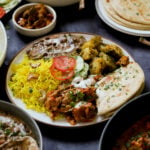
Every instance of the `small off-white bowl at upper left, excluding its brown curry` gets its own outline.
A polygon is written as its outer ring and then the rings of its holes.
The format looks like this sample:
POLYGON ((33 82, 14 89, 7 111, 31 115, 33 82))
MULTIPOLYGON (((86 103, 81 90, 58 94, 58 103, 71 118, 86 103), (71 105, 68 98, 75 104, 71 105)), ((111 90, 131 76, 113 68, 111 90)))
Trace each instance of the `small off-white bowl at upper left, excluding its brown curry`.
POLYGON ((13 24, 14 24, 14 28, 22 35, 25 35, 25 36, 30 36, 30 37, 37 37, 37 36, 42 36, 42 35, 45 35, 47 33, 49 33, 50 31, 52 31, 56 25, 56 19, 57 19, 57 15, 56 15, 56 12, 55 10, 48 6, 48 5, 45 5, 46 8, 52 13, 53 15, 53 20, 50 24, 48 24, 47 26, 45 27, 42 27, 42 28, 39 28, 39 29, 27 29, 27 28, 24 28, 22 26, 20 26, 17 22, 16 22, 16 18, 25 10, 27 10, 28 8, 30 8, 31 6, 34 6, 38 3, 30 3, 30 4, 24 4, 20 7, 18 7, 15 12, 13 13, 13 16, 12 16, 12 21, 13 21, 13 24))

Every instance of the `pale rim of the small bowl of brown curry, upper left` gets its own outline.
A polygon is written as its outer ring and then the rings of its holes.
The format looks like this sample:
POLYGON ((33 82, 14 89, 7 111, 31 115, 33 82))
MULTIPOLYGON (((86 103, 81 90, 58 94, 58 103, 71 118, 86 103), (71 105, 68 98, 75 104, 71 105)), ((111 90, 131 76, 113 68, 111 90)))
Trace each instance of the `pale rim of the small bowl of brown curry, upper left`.
MULTIPOLYGON (((12 15, 12 22, 15 26, 17 26, 17 28, 21 29, 21 30, 24 30, 24 31, 30 31, 30 32, 38 32, 38 31, 42 31, 42 30, 45 30, 49 27, 51 27, 52 25, 54 25, 56 23, 56 19, 57 19, 57 14, 56 14, 56 11, 49 5, 47 4, 44 4, 44 6, 46 6, 46 8, 48 9, 48 11, 50 11, 52 14, 53 14, 53 19, 52 19, 52 22, 48 25, 46 25, 45 27, 42 27, 42 28, 38 28, 38 29, 28 29, 28 28, 24 28, 22 26, 20 26, 17 22, 16 22, 16 15, 17 13, 20 14, 21 12, 23 12, 23 10, 26 10, 26 8, 29 8, 31 6, 34 6, 36 4, 40 4, 40 3, 29 3, 29 4, 24 4, 20 7, 18 7, 14 12, 13 12, 13 15, 12 15)), ((17 15, 18 16, 18 15, 17 15)))

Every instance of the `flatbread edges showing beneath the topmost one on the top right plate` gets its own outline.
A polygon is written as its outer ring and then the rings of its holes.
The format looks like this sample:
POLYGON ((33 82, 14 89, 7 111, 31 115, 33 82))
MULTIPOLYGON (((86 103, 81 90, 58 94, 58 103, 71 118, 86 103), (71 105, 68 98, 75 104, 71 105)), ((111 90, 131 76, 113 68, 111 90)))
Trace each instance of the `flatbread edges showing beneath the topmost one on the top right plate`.
POLYGON ((108 0, 103 0, 103 5, 105 7, 105 10, 107 12, 108 17, 113 20, 114 22, 129 27, 133 29, 138 29, 138 30, 150 30, 150 25, 146 24, 140 24, 140 23, 134 23, 130 22, 124 18, 121 18, 113 9, 113 7, 110 5, 110 1, 108 0))

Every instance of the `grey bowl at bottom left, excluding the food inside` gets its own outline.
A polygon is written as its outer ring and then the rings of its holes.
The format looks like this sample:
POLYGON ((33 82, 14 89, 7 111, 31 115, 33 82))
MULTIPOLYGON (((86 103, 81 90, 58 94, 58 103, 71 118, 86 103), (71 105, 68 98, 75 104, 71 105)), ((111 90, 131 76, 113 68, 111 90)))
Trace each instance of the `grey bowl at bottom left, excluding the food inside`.
POLYGON ((22 109, 11 103, 0 100, 0 112, 10 114, 11 116, 17 117, 23 121, 32 131, 35 140, 38 143, 39 150, 43 150, 43 141, 40 129, 36 122, 22 109))

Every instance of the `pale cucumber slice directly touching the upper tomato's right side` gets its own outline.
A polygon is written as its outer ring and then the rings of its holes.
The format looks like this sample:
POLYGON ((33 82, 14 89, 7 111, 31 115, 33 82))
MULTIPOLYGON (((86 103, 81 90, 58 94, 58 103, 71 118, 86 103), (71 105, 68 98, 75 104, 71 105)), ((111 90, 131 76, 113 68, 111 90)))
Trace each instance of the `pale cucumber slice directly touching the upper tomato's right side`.
POLYGON ((84 68, 84 60, 81 56, 77 56, 75 72, 80 72, 83 68, 84 68))

